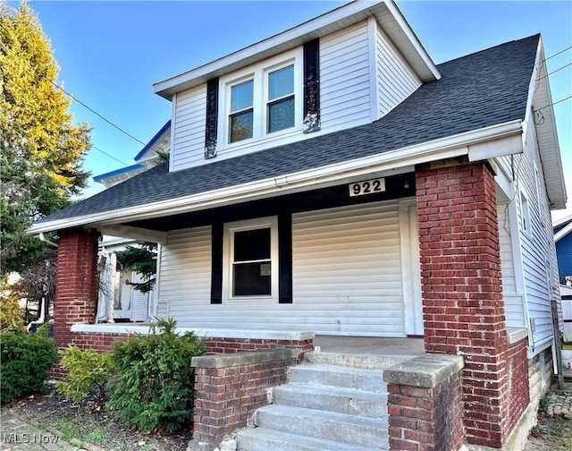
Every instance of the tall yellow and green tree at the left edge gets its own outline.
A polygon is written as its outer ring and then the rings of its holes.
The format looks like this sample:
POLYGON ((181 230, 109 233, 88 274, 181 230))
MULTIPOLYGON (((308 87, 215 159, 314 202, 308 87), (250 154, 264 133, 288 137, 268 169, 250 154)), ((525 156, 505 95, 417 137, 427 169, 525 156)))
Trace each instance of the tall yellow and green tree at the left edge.
POLYGON ((27 236, 32 221, 71 204, 86 186, 86 123, 56 84, 59 68, 28 4, 0 4, 0 265, 2 273, 38 260, 45 245, 27 236))

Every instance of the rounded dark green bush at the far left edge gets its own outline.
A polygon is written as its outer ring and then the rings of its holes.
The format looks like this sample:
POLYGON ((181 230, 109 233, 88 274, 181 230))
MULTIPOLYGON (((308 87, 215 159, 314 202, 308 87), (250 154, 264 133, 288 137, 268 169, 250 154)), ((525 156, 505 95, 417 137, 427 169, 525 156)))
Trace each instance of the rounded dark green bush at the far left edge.
POLYGON ((47 337, 46 325, 29 335, 25 335, 22 328, 1 332, 2 404, 41 393, 56 355, 54 340, 47 337))

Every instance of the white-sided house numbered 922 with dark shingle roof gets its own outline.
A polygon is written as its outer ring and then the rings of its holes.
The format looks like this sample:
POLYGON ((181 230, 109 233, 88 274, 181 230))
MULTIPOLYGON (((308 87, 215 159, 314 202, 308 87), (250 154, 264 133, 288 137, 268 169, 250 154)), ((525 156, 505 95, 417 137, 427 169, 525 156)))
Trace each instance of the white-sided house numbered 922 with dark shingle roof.
POLYGON ((464 358, 468 444, 534 418, 566 203, 539 35, 433 64, 393 2, 357 2, 155 90, 169 164, 29 230, 59 231, 60 283, 98 233, 156 241, 157 315, 181 328, 424 336, 464 358))

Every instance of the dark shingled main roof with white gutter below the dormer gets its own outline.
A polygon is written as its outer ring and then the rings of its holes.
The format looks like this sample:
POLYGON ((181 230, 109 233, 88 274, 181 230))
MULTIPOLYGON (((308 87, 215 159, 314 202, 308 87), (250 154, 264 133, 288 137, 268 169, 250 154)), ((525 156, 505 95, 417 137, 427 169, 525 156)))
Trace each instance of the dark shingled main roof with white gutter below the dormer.
POLYGON ((172 173, 166 164, 156 166, 39 220, 29 233, 268 197, 326 172, 371 171, 380 161, 393 167, 422 163, 442 157, 442 149, 458 152, 469 142, 520 137, 539 39, 535 35, 439 64, 439 81, 425 83, 374 123, 172 173))

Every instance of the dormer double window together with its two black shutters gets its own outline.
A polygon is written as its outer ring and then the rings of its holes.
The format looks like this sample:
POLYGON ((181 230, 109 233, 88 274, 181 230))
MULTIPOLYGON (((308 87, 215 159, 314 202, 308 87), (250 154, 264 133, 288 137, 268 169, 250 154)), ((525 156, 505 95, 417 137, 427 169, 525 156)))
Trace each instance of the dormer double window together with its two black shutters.
POLYGON ((320 130, 319 41, 206 83, 205 158, 320 130))

